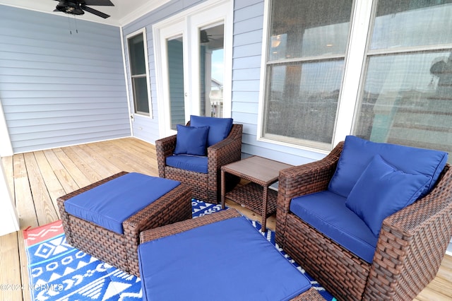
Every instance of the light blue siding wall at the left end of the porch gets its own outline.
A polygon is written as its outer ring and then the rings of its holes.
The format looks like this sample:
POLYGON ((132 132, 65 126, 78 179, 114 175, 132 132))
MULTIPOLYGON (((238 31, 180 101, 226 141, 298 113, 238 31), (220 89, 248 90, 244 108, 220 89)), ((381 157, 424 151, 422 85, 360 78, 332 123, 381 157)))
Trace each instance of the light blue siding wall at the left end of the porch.
POLYGON ((130 136, 119 28, 0 5, 0 100, 14 153, 130 136))

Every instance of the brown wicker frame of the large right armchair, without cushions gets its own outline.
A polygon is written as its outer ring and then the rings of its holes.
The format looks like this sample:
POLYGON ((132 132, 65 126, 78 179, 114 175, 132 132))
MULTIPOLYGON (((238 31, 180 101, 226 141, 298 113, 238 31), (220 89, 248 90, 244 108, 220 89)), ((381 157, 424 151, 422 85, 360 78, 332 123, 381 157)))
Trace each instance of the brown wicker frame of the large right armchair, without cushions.
POLYGON ((326 190, 343 142, 323 160, 281 170, 276 242, 338 300, 412 300, 438 272, 452 236, 452 169, 427 196, 388 216, 372 264, 290 212, 295 196, 326 190))

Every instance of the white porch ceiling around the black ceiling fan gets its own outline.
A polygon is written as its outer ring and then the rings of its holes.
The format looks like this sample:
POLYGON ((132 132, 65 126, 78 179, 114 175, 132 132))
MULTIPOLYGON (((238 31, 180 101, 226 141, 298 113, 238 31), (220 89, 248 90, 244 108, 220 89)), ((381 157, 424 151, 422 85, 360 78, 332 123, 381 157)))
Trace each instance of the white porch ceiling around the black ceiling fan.
MULTIPOLYGON (((75 16, 80 20, 89 20, 97 23, 105 23, 109 25, 126 25, 132 20, 143 16, 149 11, 162 6, 169 2, 169 0, 111 0, 114 6, 90 6, 102 13, 110 15, 109 18, 104 19, 95 16, 92 13, 85 12, 82 16, 75 16)), ((58 2, 55 0, 0 0, 0 4, 15 6, 18 8, 30 9, 32 11, 40 11, 42 13, 52 13, 58 16, 66 16, 67 18, 74 18, 72 15, 54 11, 58 2)))

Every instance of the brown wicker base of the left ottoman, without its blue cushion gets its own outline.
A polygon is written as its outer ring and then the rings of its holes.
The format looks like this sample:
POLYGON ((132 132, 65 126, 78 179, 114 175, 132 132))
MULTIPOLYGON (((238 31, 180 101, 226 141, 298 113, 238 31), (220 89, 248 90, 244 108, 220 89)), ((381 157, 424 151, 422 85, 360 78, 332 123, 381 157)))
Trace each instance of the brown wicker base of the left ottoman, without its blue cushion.
POLYGON ((180 220, 191 219, 191 189, 180 184, 164 196, 153 201, 123 222, 124 235, 112 232, 81 218, 69 215, 64 210, 64 201, 93 187, 108 182, 117 175, 103 179, 88 187, 61 196, 58 201, 66 241, 77 249, 95 256, 127 273, 139 276, 138 244, 143 230, 160 227, 180 220))

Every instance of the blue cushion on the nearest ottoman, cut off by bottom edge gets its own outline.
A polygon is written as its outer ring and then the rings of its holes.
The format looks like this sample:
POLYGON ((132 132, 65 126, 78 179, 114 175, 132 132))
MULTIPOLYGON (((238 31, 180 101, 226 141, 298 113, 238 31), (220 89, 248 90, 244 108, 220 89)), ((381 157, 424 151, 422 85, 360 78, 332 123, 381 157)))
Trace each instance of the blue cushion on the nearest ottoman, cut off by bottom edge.
POLYGON ((311 287, 244 217, 140 244, 138 261, 143 300, 290 300, 311 287))

